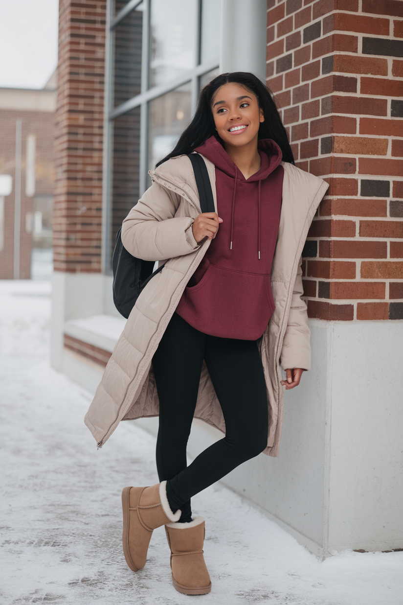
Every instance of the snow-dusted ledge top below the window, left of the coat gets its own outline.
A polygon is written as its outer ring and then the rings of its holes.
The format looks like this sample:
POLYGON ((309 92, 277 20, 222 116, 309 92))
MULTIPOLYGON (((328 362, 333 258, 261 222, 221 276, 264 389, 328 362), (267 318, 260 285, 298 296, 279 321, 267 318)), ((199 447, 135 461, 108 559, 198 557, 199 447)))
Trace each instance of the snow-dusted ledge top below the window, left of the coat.
POLYGON ((126 319, 123 317, 92 315, 83 319, 69 319, 65 322, 63 331, 72 338, 112 353, 125 324, 126 319))

